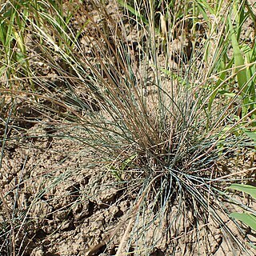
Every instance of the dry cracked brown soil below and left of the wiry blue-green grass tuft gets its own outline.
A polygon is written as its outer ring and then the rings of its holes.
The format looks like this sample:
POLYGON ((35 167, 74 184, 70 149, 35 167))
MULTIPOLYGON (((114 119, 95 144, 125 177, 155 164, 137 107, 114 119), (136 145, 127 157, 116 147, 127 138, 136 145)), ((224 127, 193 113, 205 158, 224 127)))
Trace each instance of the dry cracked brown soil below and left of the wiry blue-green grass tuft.
MULTIPOLYGON (((90 166, 86 158, 91 154, 97 156, 96 152, 87 151, 81 142, 64 138, 58 131, 50 137, 43 130, 42 123, 38 123, 27 130, 30 138, 23 134, 24 138, 7 141, 3 150, 1 187, 6 206, 2 206, 0 218, 7 222, 9 212, 13 225, 20 226, 15 229, 16 246, 25 250, 26 255, 34 256, 116 254, 118 245, 126 238, 130 220, 137 222, 136 228, 140 230, 146 219, 154 219, 154 213, 146 210, 143 218, 135 220, 132 207, 136 194, 124 193, 110 171, 97 167, 100 155, 90 166)), ((12 134, 10 139, 12 136, 15 138, 17 134, 12 134)), ((178 205, 172 206, 170 216, 177 212, 178 205)), ((226 214, 219 215, 239 236, 226 214)), ((199 251, 203 255, 233 255, 234 252, 243 255, 237 245, 229 247, 221 226, 213 220, 209 219, 206 234, 200 227, 193 227, 192 219, 192 215, 180 215, 179 226, 166 236, 171 218, 160 214, 144 235, 134 235, 134 252, 148 239, 155 246, 140 255, 170 255, 171 245, 176 245, 175 255, 196 255, 199 251), (186 230, 190 231, 184 234, 186 230), (186 240, 199 242, 201 246, 194 247, 193 242, 186 240), (210 248, 203 247, 206 240, 210 241, 210 248)), ((4 236, 0 239, 8 246, 8 239, 4 236)))

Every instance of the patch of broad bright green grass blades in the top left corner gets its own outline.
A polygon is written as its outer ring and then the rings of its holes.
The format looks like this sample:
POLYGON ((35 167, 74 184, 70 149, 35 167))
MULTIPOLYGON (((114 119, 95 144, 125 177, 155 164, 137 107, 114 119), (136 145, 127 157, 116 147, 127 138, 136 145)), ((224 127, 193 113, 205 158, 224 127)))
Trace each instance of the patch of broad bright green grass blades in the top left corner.
MULTIPOLYGON (((12 78, 31 76, 29 56, 27 54, 27 19, 32 9, 30 1, 2 2, 0 19, 0 74, 5 78, 6 86, 12 78)), ((33 88, 33 83, 30 81, 33 88)), ((16 87, 16 86, 15 86, 16 87)))

